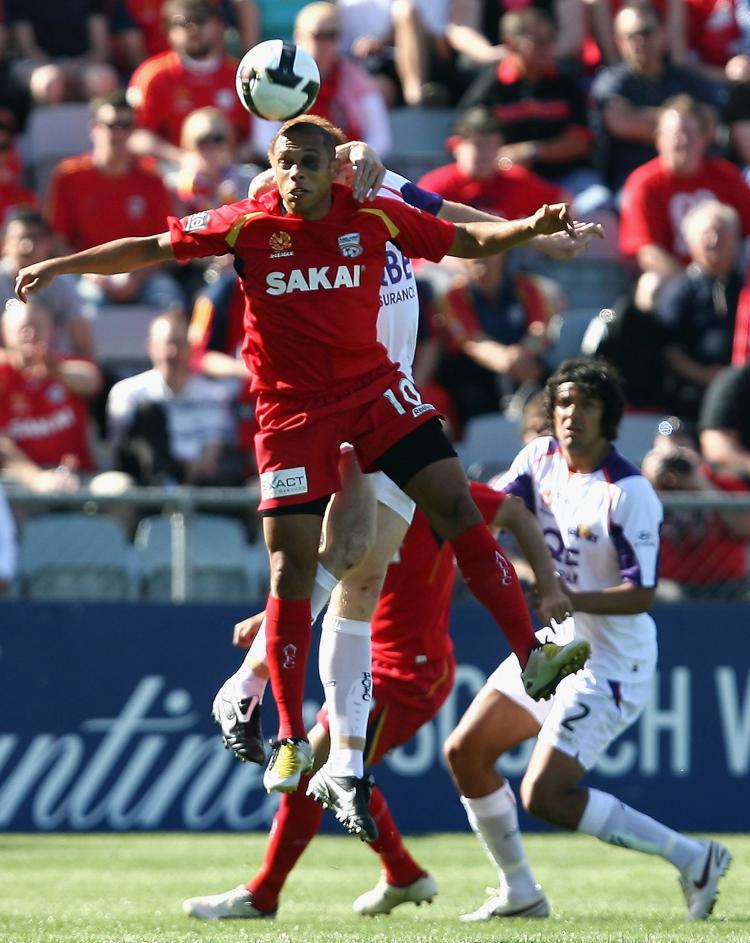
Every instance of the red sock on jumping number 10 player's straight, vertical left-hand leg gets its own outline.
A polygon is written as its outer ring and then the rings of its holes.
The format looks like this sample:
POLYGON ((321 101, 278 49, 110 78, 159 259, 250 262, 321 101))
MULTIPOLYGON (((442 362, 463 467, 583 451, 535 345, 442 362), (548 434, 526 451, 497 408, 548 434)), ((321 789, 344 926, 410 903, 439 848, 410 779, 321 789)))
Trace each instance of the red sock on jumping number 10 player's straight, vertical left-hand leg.
POLYGON ((266 603, 266 652, 271 688, 279 712, 279 740, 305 737, 302 700, 310 649, 310 600, 277 599, 266 603))

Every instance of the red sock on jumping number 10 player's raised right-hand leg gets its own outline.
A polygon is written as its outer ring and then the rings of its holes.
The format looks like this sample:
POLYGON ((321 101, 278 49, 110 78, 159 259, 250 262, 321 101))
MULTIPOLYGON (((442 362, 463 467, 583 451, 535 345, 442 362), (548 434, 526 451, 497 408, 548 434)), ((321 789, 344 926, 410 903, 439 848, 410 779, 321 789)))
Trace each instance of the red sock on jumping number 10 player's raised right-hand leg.
POLYGON ((513 564, 486 524, 470 527, 451 546, 466 585, 490 611, 525 668, 536 637, 513 564))

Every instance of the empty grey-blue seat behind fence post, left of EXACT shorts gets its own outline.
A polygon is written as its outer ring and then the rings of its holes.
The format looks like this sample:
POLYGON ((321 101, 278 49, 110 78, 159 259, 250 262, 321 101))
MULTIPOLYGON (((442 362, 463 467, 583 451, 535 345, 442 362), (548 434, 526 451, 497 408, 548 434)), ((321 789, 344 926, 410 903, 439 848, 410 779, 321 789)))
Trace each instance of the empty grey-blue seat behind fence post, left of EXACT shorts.
MULTIPOLYGON (((212 514, 191 515, 185 519, 185 538, 186 598, 231 601, 253 596, 250 556, 239 521, 212 514)), ((138 525, 135 548, 147 599, 173 598, 175 544, 169 517, 149 517, 138 525)))

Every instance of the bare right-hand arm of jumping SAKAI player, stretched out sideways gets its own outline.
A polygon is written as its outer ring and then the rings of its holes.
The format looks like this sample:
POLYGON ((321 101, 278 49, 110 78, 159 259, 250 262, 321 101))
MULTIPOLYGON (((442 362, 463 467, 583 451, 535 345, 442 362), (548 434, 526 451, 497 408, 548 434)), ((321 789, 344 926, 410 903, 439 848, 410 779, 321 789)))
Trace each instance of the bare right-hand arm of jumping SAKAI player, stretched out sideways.
POLYGON ((533 216, 493 223, 457 223, 446 255, 478 259, 528 243, 535 236, 567 232, 575 236, 575 223, 565 203, 545 203, 533 216))

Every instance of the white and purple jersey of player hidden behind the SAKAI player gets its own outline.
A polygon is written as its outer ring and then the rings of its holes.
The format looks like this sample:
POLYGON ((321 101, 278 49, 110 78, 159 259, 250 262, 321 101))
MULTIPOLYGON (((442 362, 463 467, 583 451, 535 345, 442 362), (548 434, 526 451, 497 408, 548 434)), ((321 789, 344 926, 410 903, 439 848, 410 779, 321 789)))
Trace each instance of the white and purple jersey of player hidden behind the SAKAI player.
MULTIPOLYGON (((386 171, 378 196, 408 203, 433 216, 437 216, 443 205, 443 199, 438 194, 423 190, 391 170, 386 171)), ((399 364, 406 376, 411 377, 419 328, 417 283, 411 261, 397 243, 386 243, 385 260, 380 283, 378 340, 388 351, 391 360, 399 364)))

